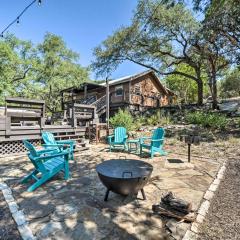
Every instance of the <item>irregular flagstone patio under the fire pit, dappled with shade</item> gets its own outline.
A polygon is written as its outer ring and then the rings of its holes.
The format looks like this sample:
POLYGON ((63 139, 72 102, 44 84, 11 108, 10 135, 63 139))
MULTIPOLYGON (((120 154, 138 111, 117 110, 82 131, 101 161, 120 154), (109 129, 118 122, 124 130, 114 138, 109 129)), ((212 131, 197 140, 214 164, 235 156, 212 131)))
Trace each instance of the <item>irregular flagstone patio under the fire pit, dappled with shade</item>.
POLYGON ((38 239, 181 239, 190 225, 153 214, 152 205, 159 203, 163 193, 172 191, 197 210, 225 155, 221 147, 214 146, 193 146, 192 161, 187 163, 186 145, 168 139, 166 157, 142 158, 154 167, 144 189, 146 201, 141 194, 134 200, 114 193, 108 202, 103 201, 105 187, 98 179, 96 164, 120 156, 140 159, 124 152, 109 153, 104 144, 76 153, 76 163, 70 163, 70 180, 64 181, 59 174, 33 193, 19 184, 33 167, 26 156, 1 158, 0 176, 11 187, 38 239))

